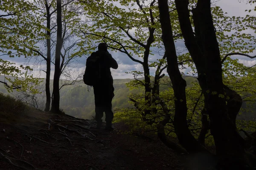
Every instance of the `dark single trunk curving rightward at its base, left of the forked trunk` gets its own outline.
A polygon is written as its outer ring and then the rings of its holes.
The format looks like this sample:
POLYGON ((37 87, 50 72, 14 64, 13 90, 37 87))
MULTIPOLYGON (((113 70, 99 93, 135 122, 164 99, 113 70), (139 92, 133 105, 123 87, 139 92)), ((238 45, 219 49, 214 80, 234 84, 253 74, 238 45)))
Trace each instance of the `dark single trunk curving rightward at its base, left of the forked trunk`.
POLYGON ((160 12, 160 23, 162 28, 162 39, 165 46, 167 59, 167 72, 172 81, 172 86, 175 96, 175 118, 174 127, 175 133, 180 144, 188 152, 205 151, 204 147, 190 133, 187 125, 187 105, 186 105, 186 81, 182 78, 178 68, 177 54, 172 35, 172 26, 169 15, 168 1, 158 0, 160 12))

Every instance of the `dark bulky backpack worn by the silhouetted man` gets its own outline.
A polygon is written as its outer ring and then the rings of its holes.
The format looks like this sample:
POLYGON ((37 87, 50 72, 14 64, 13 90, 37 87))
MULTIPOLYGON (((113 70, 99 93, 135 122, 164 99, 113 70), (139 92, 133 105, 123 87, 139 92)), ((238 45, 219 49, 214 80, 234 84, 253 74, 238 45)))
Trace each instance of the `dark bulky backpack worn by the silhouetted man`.
POLYGON ((101 79, 100 74, 100 63, 99 56, 95 53, 91 54, 86 60, 86 68, 84 72, 84 84, 86 85, 96 85, 101 79))

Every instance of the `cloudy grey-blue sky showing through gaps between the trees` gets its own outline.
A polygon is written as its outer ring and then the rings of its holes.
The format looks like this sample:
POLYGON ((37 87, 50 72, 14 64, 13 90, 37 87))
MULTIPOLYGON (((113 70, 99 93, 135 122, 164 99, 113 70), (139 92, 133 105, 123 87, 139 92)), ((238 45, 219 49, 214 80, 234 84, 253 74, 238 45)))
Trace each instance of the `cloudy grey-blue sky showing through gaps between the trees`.
MULTIPOLYGON (((239 3, 238 0, 220 0, 217 2, 217 5, 220 6, 223 9, 223 11, 227 12, 230 16, 241 16, 241 17, 243 17, 247 14, 247 12, 244 12, 246 9, 253 8, 253 6, 250 6, 249 4, 246 4, 245 2, 239 3)), ((253 13, 255 13, 255 11, 251 12, 251 14, 253 14, 253 13)), ((253 15, 255 15, 255 14, 253 14, 253 15)), ((252 31, 252 34, 254 34, 253 31, 252 31)), ((176 46, 183 47, 184 44, 183 44, 183 42, 177 42, 176 46)), ((131 59, 129 59, 125 54, 122 54, 121 52, 112 52, 112 51, 110 51, 110 52, 111 52, 113 58, 116 59, 117 62, 119 63, 119 68, 117 70, 113 70, 113 69, 111 70, 112 76, 114 79, 133 78, 132 75, 125 74, 125 72, 134 71, 134 70, 143 71, 141 65, 137 64, 136 62, 131 61, 131 59)), ((256 55, 256 51, 250 55, 256 55)), ((22 57, 9 58, 9 57, 2 56, 1 58, 9 60, 11 62, 15 62, 15 63, 17 63, 17 65, 24 64, 24 59, 22 57)), ((249 59, 249 58, 240 57, 240 56, 234 56, 234 58, 238 58, 239 62, 244 63, 247 66, 256 64, 255 59, 249 59)), ((73 70, 76 71, 76 73, 84 72, 85 62, 86 62, 86 58, 85 57, 81 58, 81 61, 78 63, 77 67, 73 70)), ((29 64, 32 65, 33 61, 29 62, 29 64)), ((46 66, 44 65, 44 63, 42 63, 41 68, 43 70, 45 70, 46 66)), ((154 74, 154 70, 155 70, 154 68, 151 68, 151 74, 154 74)), ((53 66, 52 66, 51 71, 52 71, 51 75, 53 78, 53 71, 54 71, 53 66)), ((188 72, 189 69, 182 70, 182 71, 186 74, 186 72, 188 72)), ((42 78, 45 77, 44 72, 39 73, 38 71, 36 71, 36 72, 34 72, 34 75, 42 77, 42 78)))

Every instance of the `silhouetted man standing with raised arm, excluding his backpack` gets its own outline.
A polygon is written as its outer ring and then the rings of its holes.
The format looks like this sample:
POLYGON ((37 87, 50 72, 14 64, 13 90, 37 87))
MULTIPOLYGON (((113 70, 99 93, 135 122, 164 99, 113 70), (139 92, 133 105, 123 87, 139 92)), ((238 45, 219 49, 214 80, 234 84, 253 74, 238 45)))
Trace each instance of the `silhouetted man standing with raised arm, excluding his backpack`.
POLYGON ((96 113, 95 119, 97 121, 97 128, 101 128, 103 112, 105 112, 105 129, 113 130, 112 99, 114 96, 114 87, 110 68, 117 69, 118 64, 111 54, 108 53, 107 49, 106 43, 100 43, 98 51, 92 53, 92 55, 99 57, 100 68, 100 81, 96 85, 93 85, 96 113))

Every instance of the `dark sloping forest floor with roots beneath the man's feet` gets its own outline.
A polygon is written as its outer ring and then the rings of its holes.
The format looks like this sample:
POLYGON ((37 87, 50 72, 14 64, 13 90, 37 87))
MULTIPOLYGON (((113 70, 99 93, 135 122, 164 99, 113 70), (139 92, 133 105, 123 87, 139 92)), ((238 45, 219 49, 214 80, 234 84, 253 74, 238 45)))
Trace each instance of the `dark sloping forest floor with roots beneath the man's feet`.
POLYGON ((156 136, 97 130, 93 120, 43 111, 0 113, 0 170, 182 170, 156 136))

